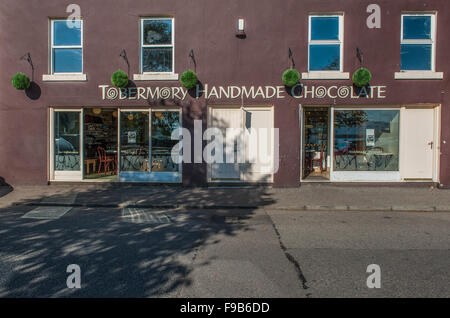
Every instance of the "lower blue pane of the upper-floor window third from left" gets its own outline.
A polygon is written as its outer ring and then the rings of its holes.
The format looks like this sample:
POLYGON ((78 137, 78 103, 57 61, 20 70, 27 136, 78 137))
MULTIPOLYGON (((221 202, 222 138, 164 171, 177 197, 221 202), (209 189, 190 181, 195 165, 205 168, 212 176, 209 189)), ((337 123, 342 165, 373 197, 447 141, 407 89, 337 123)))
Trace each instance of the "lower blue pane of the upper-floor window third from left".
POLYGON ((339 71, 341 64, 340 45, 310 45, 310 71, 339 71))

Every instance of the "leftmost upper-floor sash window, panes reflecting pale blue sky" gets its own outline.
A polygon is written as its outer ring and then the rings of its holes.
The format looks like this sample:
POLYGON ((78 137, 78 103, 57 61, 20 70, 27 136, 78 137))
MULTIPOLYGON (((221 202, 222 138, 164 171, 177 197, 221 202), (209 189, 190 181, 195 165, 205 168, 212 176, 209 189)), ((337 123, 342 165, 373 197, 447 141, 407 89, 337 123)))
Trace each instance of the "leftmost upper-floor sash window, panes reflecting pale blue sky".
POLYGON ((83 72, 83 21, 51 21, 51 73, 83 72))

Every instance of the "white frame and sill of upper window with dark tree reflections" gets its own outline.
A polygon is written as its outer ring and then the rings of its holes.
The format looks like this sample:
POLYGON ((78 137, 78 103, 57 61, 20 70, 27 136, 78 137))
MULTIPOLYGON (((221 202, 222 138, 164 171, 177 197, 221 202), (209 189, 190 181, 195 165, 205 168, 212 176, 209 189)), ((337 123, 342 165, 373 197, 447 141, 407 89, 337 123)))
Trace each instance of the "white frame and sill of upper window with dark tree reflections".
POLYGON ((142 17, 139 22, 139 65, 140 74, 134 74, 133 79, 136 81, 145 80, 178 80, 178 74, 175 73, 175 18, 173 17, 142 17), (144 21, 148 20, 171 20, 172 37, 171 44, 144 44, 144 21), (172 71, 171 72, 144 72, 144 48, 152 47, 168 47, 172 48, 172 71))

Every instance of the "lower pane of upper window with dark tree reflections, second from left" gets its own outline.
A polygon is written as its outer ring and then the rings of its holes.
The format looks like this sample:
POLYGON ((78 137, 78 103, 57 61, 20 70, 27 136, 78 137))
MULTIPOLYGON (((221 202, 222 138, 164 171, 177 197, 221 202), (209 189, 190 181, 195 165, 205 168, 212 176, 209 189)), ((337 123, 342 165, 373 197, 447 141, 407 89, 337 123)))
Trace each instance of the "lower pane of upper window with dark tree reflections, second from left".
POLYGON ((172 48, 142 48, 143 72, 172 72, 172 48))

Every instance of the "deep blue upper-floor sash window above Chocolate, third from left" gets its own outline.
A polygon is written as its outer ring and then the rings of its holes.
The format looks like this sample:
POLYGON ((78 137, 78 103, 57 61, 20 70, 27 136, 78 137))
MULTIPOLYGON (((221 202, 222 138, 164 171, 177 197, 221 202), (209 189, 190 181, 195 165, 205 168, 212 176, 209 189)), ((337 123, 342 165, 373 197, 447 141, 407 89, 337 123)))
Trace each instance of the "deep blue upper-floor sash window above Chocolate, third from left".
POLYGON ((343 61, 343 16, 309 16, 309 71, 340 71, 343 61))

